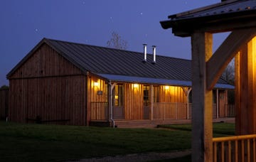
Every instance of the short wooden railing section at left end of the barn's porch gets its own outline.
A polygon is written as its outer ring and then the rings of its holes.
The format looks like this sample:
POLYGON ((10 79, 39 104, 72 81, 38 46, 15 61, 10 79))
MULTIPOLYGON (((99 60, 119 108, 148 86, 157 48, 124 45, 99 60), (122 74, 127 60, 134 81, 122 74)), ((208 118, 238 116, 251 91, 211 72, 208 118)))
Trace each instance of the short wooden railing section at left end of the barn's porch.
POLYGON ((91 102, 91 120, 107 120, 107 102, 91 102))

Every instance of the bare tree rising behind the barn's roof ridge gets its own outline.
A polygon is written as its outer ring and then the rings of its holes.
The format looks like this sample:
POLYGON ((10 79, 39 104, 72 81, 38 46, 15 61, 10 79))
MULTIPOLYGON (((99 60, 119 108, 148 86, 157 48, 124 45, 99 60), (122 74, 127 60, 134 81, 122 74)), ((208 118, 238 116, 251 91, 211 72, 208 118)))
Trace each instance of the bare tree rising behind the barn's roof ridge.
POLYGON ((121 36, 119 36, 118 33, 112 32, 112 38, 110 38, 110 41, 107 41, 107 47, 110 48, 117 48, 120 50, 126 50, 127 49, 127 41, 124 41, 121 36))

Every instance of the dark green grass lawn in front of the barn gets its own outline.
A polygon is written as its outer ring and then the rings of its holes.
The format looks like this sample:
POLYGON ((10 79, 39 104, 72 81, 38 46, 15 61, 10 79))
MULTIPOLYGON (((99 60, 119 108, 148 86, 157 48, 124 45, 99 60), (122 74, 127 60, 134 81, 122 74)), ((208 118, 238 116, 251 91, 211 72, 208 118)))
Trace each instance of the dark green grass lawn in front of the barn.
MULTIPOLYGON (((1 121, 0 161, 65 161, 191 148, 189 124, 169 128, 113 129, 1 121)), ((213 128, 218 136, 229 135, 233 132, 234 124, 216 124, 213 128)), ((177 158, 177 161, 188 158, 190 156, 177 158)))

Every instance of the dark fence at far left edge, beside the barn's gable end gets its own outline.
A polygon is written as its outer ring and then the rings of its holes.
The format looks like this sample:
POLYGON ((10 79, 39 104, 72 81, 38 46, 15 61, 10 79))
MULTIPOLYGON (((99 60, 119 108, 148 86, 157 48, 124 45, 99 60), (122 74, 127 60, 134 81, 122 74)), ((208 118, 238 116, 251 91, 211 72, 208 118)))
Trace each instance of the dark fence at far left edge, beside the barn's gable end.
POLYGON ((0 89, 0 119, 8 117, 9 109, 9 88, 0 89))

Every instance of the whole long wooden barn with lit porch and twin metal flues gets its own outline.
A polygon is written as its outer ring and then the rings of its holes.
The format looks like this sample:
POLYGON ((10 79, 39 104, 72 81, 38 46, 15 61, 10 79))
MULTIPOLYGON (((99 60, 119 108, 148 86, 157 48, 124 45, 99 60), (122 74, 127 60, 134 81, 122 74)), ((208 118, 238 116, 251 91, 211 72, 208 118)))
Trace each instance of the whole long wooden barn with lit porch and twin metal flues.
MULTIPOLYGON (((47 38, 7 75, 9 120, 127 126, 191 119, 191 60, 47 38)), ((221 78, 213 118, 234 117, 221 78)))

